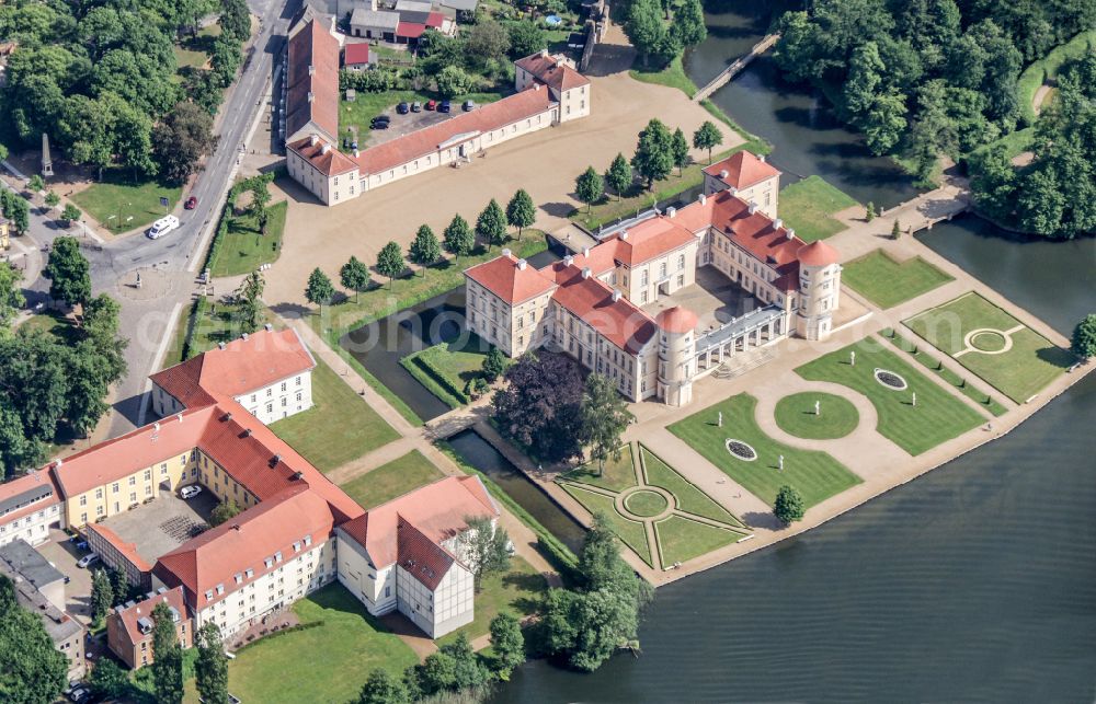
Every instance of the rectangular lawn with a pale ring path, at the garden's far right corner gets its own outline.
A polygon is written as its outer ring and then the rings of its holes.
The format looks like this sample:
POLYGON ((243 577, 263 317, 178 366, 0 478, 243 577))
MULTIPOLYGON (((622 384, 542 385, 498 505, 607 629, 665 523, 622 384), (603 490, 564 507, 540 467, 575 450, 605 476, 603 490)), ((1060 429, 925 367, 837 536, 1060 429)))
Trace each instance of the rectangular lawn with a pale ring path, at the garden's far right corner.
MULTIPOLYGON (((1024 403, 1072 366, 1076 358, 1069 350, 1023 325, 1015 318, 978 293, 960 296, 949 303, 904 321, 906 327, 931 345, 955 357, 956 361, 981 377, 1016 403, 1024 403), (1016 328, 1019 330, 1016 330, 1016 328), (1002 354, 966 351, 967 334, 978 328, 1011 333, 1012 348, 1002 354)), ((972 344, 989 348, 1000 335, 982 335, 972 344), (983 339, 984 338, 984 339, 983 339)))

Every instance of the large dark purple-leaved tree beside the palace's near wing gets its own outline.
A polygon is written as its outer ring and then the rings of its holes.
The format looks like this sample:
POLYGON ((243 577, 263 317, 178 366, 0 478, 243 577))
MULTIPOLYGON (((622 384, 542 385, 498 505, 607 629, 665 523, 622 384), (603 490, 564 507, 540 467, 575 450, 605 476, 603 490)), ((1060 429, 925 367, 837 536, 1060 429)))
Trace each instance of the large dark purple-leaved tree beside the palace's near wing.
POLYGON ((582 376, 562 355, 526 353, 510 366, 492 400, 499 429, 545 462, 582 454, 582 376))

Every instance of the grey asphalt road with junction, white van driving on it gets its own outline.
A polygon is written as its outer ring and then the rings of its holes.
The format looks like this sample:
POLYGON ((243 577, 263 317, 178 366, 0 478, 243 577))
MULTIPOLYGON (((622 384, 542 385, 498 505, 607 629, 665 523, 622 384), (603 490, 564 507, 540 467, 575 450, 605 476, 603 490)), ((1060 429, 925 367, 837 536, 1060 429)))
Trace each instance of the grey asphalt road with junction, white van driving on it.
MULTIPOLYGON (((197 290, 197 268, 208 246, 220 204, 236 175, 239 151, 265 103, 267 82, 273 73, 275 59, 281 57, 289 20, 297 12, 300 0, 249 0, 251 12, 259 18, 259 35, 250 59, 237 83, 229 89, 220 108, 218 142, 209 154, 205 169, 198 174, 193 188, 184 195, 198 198, 194 210, 181 215, 182 226, 170 234, 149 240, 140 234, 121 238, 102 245, 87 241, 83 252, 91 264, 94 295, 109 293, 122 303, 121 330, 129 338, 126 362, 129 372, 114 393, 114 413, 109 435, 114 437, 130 430, 145 420, 145 396, 148 374, 156 371, 163 348, 168 344, 175 316, 185 314, 197 290), (135 286, 138 272, 141 288, 135 286)), ((48 281, 37 278, 44 262, 38 250, 59 235, 72 234, 61 230, 35 208, 31 210, 31 227, 23 238, 27 252, 24 258, 30 303, 45 298, 48 281)))

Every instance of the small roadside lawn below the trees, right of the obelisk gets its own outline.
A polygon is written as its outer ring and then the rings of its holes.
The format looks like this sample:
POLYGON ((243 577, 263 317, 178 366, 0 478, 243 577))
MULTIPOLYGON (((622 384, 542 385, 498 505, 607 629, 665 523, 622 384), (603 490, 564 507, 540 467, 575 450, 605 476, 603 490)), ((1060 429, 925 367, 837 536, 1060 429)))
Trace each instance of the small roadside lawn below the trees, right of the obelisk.
POLYGON ((181 186, 155 181, 135 184, 128 170, 110 169, 103 172, 102 181, 72 194, 71 199, 81 210, 104 228, 109 227, 112 232, 119 231, 117 226, 121 213, 121 231, 127 232, 163 217, 161 196, 168 198, 170 212, 179 203, 182 193, 181 186), (127 222, 126 218, 130 217, 133 220, 127 222))

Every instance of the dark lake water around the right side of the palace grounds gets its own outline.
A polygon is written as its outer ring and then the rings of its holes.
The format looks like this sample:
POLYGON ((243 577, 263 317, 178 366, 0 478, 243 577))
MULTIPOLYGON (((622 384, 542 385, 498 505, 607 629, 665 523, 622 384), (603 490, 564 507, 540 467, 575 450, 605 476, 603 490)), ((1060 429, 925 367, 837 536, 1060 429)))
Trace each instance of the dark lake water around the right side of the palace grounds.
MULTIPOLYGON (((708 3, 703 83, 757 41, 761 3, 708 3), (718 8, 717 8, 718 5, 718 8)), ((762 61, 715 96, 859 200, 912 194, 762 61)), ((1096 242, 1031 242, 974 217, 922 240, 1063 334, 1096 310, 1096 242)), ((1096 379, 1008 436, 807 535, 659 589, 639 658, 593 674, 545 661, 495 702, 1092 702, 1096 379)))

